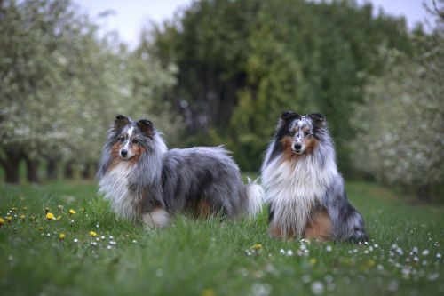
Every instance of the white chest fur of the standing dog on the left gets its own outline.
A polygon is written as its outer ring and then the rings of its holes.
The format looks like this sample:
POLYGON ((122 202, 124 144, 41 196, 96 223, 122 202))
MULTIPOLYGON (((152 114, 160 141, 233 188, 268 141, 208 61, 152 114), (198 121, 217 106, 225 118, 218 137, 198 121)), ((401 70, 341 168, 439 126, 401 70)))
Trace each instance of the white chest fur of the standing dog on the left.
POLYGON ((131 168, 128 164, 117 164, 99 182, 99 193, 109 200, 115 213, 123 218, 134 220, 138 217, 139 196, 128 188, 131 168))

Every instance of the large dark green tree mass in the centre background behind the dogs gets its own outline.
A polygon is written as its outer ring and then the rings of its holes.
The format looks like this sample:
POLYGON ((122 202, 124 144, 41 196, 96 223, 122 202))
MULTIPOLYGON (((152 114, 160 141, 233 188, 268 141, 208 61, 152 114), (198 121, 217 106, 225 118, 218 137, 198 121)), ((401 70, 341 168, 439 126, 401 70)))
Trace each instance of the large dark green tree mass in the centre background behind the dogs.
POLYGON ((154 53, 178 65, 190 132, 216 128, 242 168, 257 170, 288 109, 324 113, 344 151, 353 102, 380 73, 382 45, 410 51, 404 20, 375 18, 371 4, 201 0, 156 29, 154 53))

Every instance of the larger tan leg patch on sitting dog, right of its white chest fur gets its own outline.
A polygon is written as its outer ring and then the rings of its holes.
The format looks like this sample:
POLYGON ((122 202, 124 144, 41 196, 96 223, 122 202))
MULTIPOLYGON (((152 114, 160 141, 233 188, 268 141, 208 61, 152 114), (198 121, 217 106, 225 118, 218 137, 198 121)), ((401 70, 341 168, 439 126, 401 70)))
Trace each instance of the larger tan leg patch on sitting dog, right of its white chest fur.
POLYGON ((305 239, 308 241, 317 239, 318 242, 327 242, 331 239, 333 228, 329 212, 325 209, 318 210, 312 215, 312 219, 307 221, 305 226, 305 239))

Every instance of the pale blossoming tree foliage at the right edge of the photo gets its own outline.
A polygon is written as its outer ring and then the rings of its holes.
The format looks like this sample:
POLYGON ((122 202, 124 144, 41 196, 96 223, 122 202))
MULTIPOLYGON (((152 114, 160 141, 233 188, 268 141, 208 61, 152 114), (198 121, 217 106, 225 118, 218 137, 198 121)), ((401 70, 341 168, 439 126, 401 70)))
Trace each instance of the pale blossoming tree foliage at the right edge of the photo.
POLYGON ((443 24, 412 36, 414 57, 385 49, 385 75, 370 80, 353 118, 356 166, 425 200, 444 180, 443 24))

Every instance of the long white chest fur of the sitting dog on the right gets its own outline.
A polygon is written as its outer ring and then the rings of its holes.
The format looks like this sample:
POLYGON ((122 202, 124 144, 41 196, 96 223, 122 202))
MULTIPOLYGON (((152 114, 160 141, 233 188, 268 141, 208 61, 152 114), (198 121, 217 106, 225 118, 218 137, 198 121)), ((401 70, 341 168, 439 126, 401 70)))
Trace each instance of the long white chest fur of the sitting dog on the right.
POLYGON ((297 162, 276 157, 262 171, 266 200, 273 203, 274 220, 283 235, 290 229, 301 235, 313 204, 325 196, 325 190, 337 176, 334 161, 321 166, 314 157, 304 156, 297 162))

